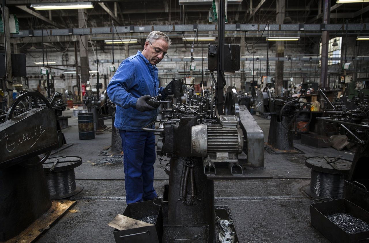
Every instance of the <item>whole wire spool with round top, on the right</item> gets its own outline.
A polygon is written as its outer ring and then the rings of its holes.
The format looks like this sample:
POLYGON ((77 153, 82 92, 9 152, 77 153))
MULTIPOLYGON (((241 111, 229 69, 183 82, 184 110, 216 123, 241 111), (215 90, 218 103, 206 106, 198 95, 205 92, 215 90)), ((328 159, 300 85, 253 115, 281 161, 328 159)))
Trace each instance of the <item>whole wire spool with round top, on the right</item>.
MULTIPOLYGON (((340 156, 339 156, 340 157, 340 156)), ((305 192, 312 198, 343 198, 345 180, 351 161, 339 157, 310 157, 305 165, 311 169, 310 187, 305 192)))

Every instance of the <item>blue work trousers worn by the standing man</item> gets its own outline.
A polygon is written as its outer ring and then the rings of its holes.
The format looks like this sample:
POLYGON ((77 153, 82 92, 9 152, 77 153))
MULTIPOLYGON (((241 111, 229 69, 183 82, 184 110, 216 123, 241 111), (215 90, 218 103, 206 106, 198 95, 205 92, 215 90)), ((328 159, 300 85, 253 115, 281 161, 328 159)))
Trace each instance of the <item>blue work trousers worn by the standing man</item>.
POLYGON ((119 130, 123 146, 126 202, 156 198, 154 189, 155 136, 153 132, 119 130))

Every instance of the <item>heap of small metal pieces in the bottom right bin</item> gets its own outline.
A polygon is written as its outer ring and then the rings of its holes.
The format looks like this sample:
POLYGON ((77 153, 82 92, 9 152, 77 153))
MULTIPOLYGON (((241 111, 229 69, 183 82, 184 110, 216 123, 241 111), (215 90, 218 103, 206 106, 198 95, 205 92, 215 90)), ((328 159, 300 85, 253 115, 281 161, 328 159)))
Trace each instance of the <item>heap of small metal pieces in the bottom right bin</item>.
POLYGON ((327 216, 327 218, 348 234, 356 234, 369 230, 368 223, 349 213, 334 213, 327 216))

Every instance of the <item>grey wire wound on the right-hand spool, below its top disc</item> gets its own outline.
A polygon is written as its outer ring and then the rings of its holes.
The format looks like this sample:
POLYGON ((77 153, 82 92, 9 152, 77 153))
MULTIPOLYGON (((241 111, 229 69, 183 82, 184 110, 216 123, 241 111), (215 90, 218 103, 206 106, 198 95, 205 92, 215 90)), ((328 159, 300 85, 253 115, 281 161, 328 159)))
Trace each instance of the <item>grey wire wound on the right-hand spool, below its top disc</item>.
POLYGON ((323 173, 311 169, 310 190, 321 198, 343 198, 348 175, 323 173))

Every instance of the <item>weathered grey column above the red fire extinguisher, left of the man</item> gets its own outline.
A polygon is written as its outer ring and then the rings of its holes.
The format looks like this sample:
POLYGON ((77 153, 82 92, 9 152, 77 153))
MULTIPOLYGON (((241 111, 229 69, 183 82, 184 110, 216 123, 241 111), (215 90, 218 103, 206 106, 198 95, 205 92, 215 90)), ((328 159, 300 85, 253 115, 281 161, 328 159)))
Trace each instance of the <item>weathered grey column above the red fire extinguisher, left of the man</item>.
MULTIPOLYGON (((78 10, 78 27, 86 28, 86 9, 78 10)), ((86 50, 88 49, 87 36, 80 36, 79 40, 79 58, 80 58, 80 66, 81 66, 81 84, 86 85, 87 81, 90 80, 89 73, 89 53, 86 50)))

